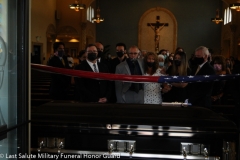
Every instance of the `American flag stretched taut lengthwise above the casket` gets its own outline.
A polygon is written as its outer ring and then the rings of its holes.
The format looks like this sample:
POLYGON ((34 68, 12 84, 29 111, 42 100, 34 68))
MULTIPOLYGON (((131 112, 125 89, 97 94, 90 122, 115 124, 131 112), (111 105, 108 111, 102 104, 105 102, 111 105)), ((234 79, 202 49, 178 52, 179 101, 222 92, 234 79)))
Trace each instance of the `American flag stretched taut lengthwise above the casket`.
POLYGON ((56 74, 64 74, 80 78, 93 78, 103 79, 110 81, 124 81, 124 82, 137 82, 137 83, 193 83, 193 82, 207 82, 207 81, 221 81, 221 80, 234 80, 240 78, 240 74, 231 75, 196 75, 196 76, 137 76, 137 75, 122 75, 110 73, 94 73, 81 70, 72 70, 64 68, 50 67, 40 64, 31 64, 32 69, 50 72, 56 74))

